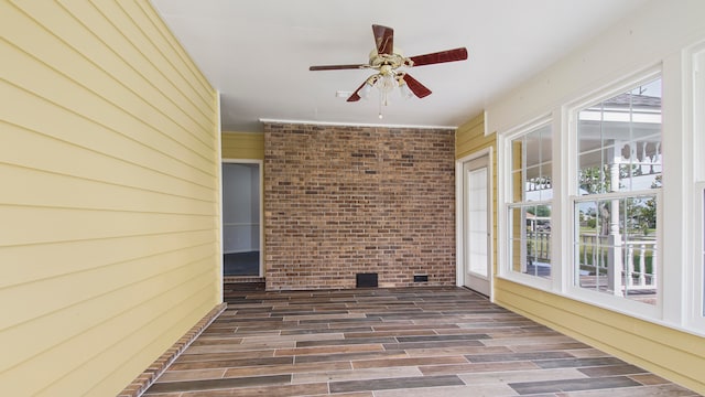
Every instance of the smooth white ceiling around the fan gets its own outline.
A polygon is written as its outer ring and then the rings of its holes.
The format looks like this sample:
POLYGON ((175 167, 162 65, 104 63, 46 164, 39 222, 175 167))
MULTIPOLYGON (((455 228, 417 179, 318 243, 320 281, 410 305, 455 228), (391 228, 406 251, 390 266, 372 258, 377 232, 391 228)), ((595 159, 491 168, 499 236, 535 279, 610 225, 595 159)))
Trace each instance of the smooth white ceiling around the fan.
POLYGON ((210 84, 224 131, 261 131, 261 119, 457 127, 509 89, 647 0, 151 0, 210 84), (464 62, 408 69, 433 94, 378 93, 346 103, 370 69, 310 72, 367 63, 371 25, 394 29, 406 56, 460 46, 464 62))

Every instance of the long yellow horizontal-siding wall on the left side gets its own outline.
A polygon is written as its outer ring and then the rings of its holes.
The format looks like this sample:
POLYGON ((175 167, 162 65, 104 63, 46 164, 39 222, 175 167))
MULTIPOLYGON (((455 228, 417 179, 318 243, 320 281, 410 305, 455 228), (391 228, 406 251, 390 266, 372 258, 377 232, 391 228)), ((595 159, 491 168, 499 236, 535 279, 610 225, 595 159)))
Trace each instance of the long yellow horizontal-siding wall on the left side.
POLYGON ((0 395, 116 395, 220 301, 216 93, 143 0, 0 37, 0 395))

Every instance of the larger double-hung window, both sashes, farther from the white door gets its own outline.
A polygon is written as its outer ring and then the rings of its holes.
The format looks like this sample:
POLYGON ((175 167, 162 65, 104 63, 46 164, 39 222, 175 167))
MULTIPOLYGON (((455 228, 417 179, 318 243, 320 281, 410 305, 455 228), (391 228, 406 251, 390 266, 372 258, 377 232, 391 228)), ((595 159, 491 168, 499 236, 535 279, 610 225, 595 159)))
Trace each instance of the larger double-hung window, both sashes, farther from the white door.
POLYGON ((582 107, 573 119, 573 283, 655 304, 661 78, 582 107))

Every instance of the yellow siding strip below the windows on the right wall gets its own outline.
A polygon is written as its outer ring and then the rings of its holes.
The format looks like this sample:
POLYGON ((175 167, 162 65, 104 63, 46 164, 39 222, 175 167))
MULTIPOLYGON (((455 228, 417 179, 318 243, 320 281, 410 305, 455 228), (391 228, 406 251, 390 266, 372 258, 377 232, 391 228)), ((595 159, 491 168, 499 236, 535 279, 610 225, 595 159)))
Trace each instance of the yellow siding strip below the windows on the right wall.
POLYGON ((495 283, 495 299, 502 307, 705 394, 702 336, 502 279, 495 283))

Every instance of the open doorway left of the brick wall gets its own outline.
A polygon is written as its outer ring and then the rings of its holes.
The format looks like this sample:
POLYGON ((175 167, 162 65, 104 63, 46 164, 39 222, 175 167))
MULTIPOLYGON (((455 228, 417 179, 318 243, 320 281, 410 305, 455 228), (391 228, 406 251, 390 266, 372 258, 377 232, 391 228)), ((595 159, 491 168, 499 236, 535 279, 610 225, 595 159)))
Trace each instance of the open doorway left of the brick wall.
POLYGON ((261 161, 223 162, 223 276, 262 277, 261 161))

